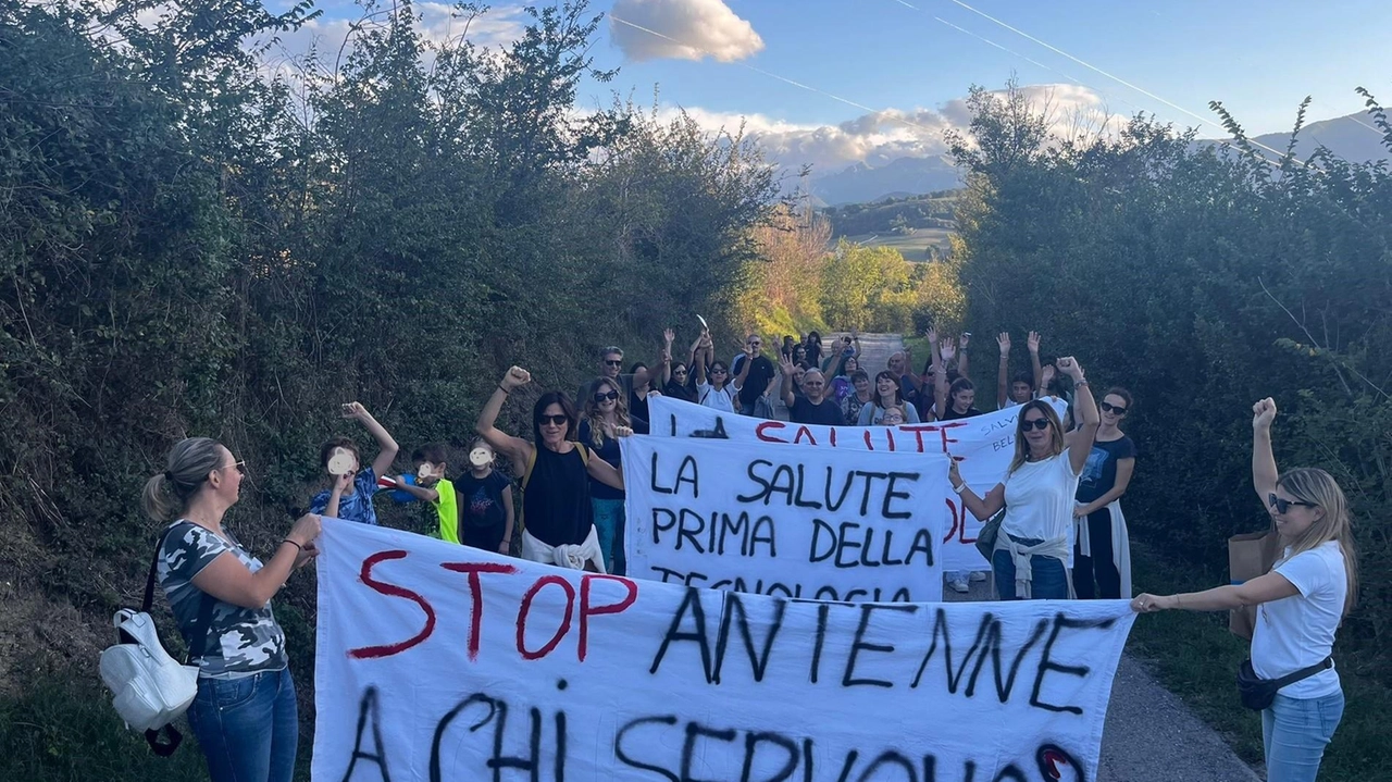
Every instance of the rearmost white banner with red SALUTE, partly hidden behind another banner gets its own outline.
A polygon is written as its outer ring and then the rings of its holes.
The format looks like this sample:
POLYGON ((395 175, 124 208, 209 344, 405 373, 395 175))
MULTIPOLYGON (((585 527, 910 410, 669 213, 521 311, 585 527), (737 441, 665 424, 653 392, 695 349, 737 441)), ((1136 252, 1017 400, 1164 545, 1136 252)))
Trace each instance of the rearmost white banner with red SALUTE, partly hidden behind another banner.
MULTIPOLYGON (((1059 415, 1066 405, 1048 399, 1059 415)), ((915 423, 903 426, 818 426, 764 420, 672 399, 649 401, 653 436, 732 440, 736 442, 785 442, 835 448, 839 451, 874 451, 891 454, 951 454, 965 480, 977 495, 984 495, 1005 477, 1015 456, 1015 419, 1019 408, 1006 408, 970 419, 915 423)), ((976 550, 981 522, 945 487, 944 502, 951 509, 944 534, 942 568, 945 570, 983 570, 990 568, 976 550)))

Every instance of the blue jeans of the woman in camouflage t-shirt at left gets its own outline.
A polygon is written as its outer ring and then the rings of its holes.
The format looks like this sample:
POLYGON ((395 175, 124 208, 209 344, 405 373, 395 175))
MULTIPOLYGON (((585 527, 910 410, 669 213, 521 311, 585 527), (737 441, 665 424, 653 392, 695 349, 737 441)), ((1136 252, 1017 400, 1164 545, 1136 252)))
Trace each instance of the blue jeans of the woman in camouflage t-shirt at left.
POLYGON ((199 679, 188 724, 213 782, 291 782, 299 714, 288 668, 199 679))

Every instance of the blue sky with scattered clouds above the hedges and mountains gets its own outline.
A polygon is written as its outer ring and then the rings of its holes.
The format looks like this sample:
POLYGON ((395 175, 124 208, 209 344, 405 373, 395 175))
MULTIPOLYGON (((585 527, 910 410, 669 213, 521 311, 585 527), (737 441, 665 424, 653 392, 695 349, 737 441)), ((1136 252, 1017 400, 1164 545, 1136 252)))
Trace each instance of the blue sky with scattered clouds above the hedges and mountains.
MULTIPOLYGON (((319 7, 324 18, 310 32, 329 39, 361 15, 345 0, 319 7)), ((457 32, 448 4, 416 8, 427 29, 457 32)), ((594 65, 619 75, 587 81, 580 109, 607 107, 615 92, 650 106, 656 90, 663 111, 681 107, 711 129, 743 122, 770 157, 823 171, 940 154, 942 132, 967 121, 969 88, 998 89, 1012 77, 1059 117, 1084 113, 1115 127, 1143 111, 1204 138, 1225 135, 1210 100, 1258 135, 1289 131, 1307 95, 1308 121, 1361 110, 1356 86, 1392 96, 1392 54, 1375 43, 1392 32, 1386 0, 592 0, 592 8, 606 14, 594 65)), ((525 21, 518 4, 494 0, 470 39, 505 46, 525 21)))

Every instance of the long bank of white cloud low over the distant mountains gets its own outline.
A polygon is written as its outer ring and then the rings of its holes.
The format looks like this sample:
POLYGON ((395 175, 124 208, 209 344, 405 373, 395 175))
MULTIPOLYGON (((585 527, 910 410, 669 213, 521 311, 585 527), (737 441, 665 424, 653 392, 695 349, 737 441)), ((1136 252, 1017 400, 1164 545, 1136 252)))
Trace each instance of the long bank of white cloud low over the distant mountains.
MULTIPOLYGON (((1079 132, 1118 131, 1128 118, 1108 111, 1105 100, 1077 85, 1030 85, 1020 90, 1037 111, 1047 111, 1055 136, 1079 132)), ((663 109, 675 113, 675 109, 663 109)), ((972 121, 965 99, 938 109, 887 109, 853 120, 828 124, 796 124, 763 114, 734 114, 707 109, 686 109, 686 114, 707 131, 734 132, 743 122, 745 135, 764 150, 770 161, 789 170, 813 166, 816 174, 831 174, 855 163, 883 166, 899 157, 947 154, 945 134, 965 131, 972 121)))

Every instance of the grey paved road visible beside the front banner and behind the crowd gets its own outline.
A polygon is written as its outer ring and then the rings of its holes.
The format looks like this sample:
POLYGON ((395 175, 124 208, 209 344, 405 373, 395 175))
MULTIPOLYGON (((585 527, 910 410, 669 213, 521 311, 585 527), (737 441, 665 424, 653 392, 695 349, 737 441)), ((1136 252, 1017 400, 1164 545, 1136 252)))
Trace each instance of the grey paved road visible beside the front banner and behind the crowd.
MULTIPOLYGON (((903 348, 896 334, 863 334, 860 366, 874 377, 903 348)), ((915 356, 920 365, 926 356, 915 356)), ((972 591, 944 590, 948 601, 991 600, 987 582, 972 591)), ((1233 754, 1178 696, 1162 687, 1146 665, 1123 654, 1112 680, 1097 782, 1257 782, 1261 778, 1233 754)))

